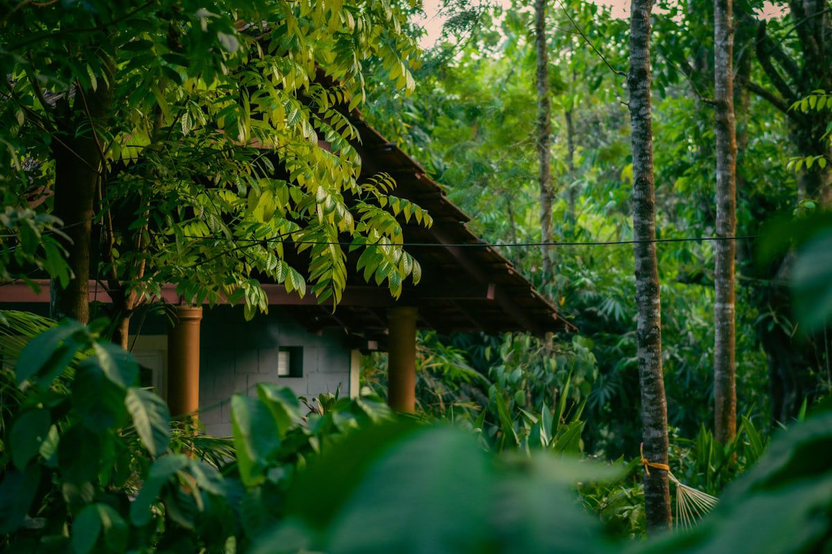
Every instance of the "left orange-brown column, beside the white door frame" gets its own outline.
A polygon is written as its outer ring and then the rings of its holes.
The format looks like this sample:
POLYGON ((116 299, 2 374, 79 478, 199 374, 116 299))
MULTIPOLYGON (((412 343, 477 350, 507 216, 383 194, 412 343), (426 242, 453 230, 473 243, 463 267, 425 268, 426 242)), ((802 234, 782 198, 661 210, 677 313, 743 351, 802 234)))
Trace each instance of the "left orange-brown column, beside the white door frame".
POLYGON ((200 407, 200 306, 176 306, 167 332, 167 405, 176 418, 200 407))

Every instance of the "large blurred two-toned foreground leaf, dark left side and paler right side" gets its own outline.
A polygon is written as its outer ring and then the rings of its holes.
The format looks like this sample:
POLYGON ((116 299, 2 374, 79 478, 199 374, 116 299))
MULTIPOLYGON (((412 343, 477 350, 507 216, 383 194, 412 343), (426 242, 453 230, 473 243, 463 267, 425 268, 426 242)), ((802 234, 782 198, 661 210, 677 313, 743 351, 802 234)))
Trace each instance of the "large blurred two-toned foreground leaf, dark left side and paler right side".
POLYGON ((299 476, 288 519, 255 552, 314 542, 313 530, 324 532, 313 549, 327 552, 465 552, 488 526, 487 473, 485 453, 461 431, 406 422, 362 430, 299 476))

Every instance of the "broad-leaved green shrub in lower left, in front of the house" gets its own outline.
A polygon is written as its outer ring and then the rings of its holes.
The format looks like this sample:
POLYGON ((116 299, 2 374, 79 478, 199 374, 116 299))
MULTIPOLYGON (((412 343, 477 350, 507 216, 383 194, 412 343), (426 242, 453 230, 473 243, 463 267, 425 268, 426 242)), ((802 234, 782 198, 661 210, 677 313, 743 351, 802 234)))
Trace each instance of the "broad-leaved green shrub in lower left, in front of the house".
POLYGON ((171 428, 132 356, 100 340, 105 322, 0 314, 13 356, 0 374, 0 532, 17 552, 231 552, 276 521, 307 457, 390 417, 379 400, 333 395, 301 415, 290 390, 260 385, 258 400, 233 400, 232 445, 171 428))

